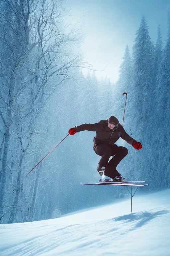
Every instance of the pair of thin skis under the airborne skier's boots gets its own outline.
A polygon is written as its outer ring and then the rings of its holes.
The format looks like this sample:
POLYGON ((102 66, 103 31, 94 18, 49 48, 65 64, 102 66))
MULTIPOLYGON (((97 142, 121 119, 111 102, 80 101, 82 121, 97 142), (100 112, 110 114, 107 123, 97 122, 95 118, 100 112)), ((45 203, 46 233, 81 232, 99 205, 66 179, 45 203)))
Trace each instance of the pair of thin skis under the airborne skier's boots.
POLYGON ((80 183, 81 185, 114 185, 114 186, 131 186, 131 187, 142 187, 146 186, 148 184, 138 184, 138 183, 144 183, 145 181, 111 181, 111 182, 97 182, 97 183, 80 183))

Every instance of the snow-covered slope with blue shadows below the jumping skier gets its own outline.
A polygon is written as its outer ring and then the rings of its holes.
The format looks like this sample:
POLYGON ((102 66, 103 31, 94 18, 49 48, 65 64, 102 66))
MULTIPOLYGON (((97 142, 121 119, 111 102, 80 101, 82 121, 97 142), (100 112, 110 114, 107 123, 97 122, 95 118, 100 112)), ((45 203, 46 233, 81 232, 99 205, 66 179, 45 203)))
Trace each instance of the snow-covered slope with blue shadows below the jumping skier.
POLYGON ((170 189, 58 219, 0 225, 1 256, 170 256, 170 189))

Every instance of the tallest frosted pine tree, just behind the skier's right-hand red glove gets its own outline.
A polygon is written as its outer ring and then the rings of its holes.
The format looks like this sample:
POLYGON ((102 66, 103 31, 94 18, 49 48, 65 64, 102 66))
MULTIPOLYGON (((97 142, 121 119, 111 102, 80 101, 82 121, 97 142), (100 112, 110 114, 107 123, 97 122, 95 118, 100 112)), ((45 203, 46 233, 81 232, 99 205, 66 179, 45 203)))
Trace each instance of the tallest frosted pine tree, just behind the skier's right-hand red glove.
POLYGON ((138 169, 139 178, 152 175, 152 120, 153 100, 153 56, 154 45, 151 42, 144 16, 133 45, 132 93, 131 93, 131 132, 132 137, 144 145, 144 149, 134 152, 133 167, 138 169), (136 164, 137 163, 137 164, 136 164), (137 165, 137 166, 136 166, 137 165), (144 172, 143 170, 146 170, 144 172))

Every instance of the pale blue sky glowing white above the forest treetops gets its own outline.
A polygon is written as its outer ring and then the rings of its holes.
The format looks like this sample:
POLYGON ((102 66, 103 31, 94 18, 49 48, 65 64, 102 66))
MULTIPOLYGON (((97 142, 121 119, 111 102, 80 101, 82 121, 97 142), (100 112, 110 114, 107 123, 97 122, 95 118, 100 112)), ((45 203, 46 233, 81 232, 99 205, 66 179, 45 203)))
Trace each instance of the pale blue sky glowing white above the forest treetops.
MULTIPOLYGON (((133 45, 142 15, 149 26, 149 35, 156 42, 157 27, 161 26, 162 40, 167 39, 167 13, 170 0, 69 0, 74 20, 82 15, 86 38, 81 47, 85 61, 93 63, 98 78, 106 75, 116 82, 124 50, 133 45)), ((87 70, 83 71, 85 74, 87 70)))

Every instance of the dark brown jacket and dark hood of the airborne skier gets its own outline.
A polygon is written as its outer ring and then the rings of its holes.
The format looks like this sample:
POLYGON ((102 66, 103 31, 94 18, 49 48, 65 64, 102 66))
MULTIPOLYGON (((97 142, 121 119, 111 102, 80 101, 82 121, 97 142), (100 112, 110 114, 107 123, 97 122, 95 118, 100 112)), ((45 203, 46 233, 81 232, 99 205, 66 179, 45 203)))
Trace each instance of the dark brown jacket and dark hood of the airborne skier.
POLYGON ((115 116, 111 116, 109 119, 101 120, 95 124, 82 124, 79 126, 75 126, 74 128, 77 132, 85 130, 96 132, 96 137, 94 137, 93 140, 93 149, 101 143, 113 145, 120 137, 126 140, 131 146, 133 142, 136 141, 126 133, 123 126, 119 123, 118 119, 115 116), (114 122, 116 124, 116 127, 110 129, 108 127, 108 120, 109 122, 114 122))

